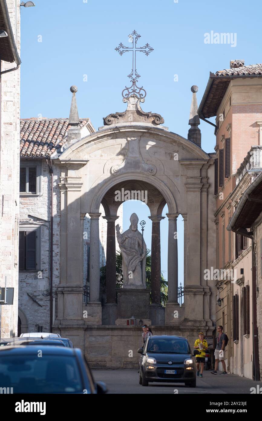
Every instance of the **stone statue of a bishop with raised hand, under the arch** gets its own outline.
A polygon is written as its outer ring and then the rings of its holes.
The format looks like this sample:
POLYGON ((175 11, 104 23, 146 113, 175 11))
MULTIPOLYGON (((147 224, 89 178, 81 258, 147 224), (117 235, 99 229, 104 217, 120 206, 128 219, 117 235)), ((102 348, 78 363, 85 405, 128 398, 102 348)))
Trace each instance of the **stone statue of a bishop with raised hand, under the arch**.
POLYGON ((146 288, 146 243, 138 231, 138 216, 132 213, 131 225, 120 234, 116 225, 116 238, 122 253, 123 288, 146 288))

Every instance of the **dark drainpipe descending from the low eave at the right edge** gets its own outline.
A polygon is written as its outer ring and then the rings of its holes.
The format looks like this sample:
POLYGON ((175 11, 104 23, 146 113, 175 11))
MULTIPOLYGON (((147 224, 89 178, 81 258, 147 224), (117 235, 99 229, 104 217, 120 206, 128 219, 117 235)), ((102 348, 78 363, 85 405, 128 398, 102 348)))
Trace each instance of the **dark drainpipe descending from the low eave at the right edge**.
POLYGON ((259 350, 258 350, 258 329, 257 329, 257 267, 254 257, 254 237, 253 232, 247 232, 246 229, 234 229, 231 231, 236 234, 242 234, 251 238, 252 242, 252 339, 253 339, 253 357, 252 357, 252 377, 253 380, 259 381, 259 350))

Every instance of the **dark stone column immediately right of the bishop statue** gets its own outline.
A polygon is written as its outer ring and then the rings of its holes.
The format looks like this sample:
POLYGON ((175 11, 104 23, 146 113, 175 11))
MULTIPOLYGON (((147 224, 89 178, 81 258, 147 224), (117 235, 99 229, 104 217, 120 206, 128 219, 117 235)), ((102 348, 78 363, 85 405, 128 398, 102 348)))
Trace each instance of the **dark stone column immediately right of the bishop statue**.
POLYGON ((148 216, 152 221, 151 240, 151 301, 160 305, 160 279, 161 279, 161 254, 160 254, 160 221, 164 216, 148 216))

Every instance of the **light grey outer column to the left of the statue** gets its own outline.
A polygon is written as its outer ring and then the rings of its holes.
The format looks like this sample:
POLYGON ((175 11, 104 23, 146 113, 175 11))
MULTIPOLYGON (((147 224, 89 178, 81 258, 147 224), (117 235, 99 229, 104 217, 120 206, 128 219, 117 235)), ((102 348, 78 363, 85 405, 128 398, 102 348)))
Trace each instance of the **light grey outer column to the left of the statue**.
POLYGON ((101 304, 99 301, 100 286, 100 240, 99 216, 101 213, 89 213, 90 216, 90 262, 89 262, 89 298, 90 304, 101 304))

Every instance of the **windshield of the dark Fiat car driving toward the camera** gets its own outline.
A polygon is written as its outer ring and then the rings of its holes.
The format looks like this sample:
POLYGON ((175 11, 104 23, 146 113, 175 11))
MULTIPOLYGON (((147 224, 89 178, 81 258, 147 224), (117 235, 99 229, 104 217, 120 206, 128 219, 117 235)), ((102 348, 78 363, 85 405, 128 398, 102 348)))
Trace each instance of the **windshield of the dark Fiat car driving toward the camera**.
POLYGON ((161 354, 190 354, 185 339, 154 339, 148 341, 147 352, 161 354))

